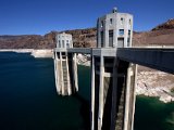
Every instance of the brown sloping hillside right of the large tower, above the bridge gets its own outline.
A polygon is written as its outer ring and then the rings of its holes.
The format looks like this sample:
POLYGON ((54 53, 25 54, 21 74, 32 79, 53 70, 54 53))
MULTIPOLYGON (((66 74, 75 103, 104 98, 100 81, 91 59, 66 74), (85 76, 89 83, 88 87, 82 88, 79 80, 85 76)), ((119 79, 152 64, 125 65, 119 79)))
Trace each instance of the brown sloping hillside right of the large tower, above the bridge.
POLYGON ((174 46, 174 20, 152 28, 151 31, 135 32, 134 46, 174 46))

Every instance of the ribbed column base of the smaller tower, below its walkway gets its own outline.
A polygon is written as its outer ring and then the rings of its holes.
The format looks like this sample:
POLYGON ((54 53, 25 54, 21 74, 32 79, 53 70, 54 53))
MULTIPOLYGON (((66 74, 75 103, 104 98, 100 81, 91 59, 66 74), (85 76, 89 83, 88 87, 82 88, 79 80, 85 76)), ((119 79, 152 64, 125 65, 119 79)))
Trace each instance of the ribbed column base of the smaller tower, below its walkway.
POLYGON ((76 53, 54 52, 54 74, 57 91, 60 95, 71 95, 78 91, 76 53))

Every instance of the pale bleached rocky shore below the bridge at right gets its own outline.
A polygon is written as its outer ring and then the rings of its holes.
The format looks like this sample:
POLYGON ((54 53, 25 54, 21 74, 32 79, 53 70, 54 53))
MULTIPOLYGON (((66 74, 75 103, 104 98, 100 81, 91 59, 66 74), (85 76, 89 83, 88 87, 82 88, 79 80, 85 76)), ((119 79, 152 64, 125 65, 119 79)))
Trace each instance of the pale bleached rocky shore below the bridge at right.
POLYGON ((163 72, 139 72, 137 74, 136 95, 159 98, 163 103, 174 102, 171 90, 174 76, 163 72))

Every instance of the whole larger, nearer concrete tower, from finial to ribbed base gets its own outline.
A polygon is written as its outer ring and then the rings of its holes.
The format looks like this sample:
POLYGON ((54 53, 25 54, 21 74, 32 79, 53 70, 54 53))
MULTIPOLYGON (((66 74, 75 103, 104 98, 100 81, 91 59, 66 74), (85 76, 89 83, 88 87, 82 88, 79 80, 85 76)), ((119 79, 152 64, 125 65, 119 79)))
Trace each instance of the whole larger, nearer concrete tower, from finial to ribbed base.
POLYGON ((134 104, 127 96, 134 96, 127 83, 129 64, 116 58, 117 48, 132 47, 132 37, 133 15, 114 8, 98 18, 97 49, 91 53, 91 130, 132 129, 134 108, 127 106, 134 104))

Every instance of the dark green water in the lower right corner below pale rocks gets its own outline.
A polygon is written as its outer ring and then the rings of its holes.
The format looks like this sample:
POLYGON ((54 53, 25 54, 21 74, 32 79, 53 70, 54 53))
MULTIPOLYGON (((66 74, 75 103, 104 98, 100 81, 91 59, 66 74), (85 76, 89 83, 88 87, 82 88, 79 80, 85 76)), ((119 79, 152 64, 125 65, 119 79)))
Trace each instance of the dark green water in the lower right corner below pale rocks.
POLYGON ((174 130, 174 102, 164 104, 157 98, 138 96, 134 130, 174 130))

